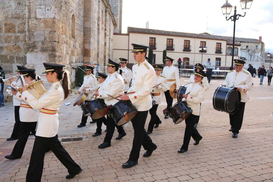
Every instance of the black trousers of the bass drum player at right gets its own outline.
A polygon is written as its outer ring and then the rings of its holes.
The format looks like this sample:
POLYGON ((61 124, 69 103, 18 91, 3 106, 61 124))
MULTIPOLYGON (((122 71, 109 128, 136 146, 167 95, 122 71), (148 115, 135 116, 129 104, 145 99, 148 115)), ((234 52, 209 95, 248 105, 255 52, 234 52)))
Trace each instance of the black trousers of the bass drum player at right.
POLYGON ((234 114, 229 115, 229 123, 231 128, 233 128, 232 133, 239 133, 242 127, 243 117, 244 117, 244 106, 245 103, 241 102, 238 111, 234 114))

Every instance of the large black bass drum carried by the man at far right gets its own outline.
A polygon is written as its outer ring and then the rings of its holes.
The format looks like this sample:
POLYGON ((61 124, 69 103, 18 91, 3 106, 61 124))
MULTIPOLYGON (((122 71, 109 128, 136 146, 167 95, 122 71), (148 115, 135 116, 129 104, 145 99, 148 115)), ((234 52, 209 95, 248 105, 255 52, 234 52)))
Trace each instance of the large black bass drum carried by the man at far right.
POLYGON ((218 86, 212 98, 213 108, 217 111, 234 114, 241 102, 241 93, 236 89, 236 87, 218 86))

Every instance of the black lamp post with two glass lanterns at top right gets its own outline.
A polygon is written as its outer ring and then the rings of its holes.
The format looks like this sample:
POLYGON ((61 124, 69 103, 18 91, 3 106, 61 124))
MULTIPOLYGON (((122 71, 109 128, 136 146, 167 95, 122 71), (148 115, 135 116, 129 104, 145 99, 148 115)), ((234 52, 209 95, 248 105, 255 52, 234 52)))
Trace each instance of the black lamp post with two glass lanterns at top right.
MULTIPOLYGON (((241 3, 241 8, 243 10, 247 10, 250 8, 251 4, 252 4, 253 0, 240 0, 240 3, 241 3)), ((223 15, 226 17, 226 20, 231 20, 234 22, 234 26, 233 26, 233 43, 232 43, 232 60, 231 60, 231 68, 233 68, 233 59, 234 59, 234 43, 235 43, 235 22, 236 20, 239 19, 239 17, 244 17, 245 16, 245 13, 244 12, 244 15, 240 15, 240 14, 236 14, 236 6, 234 6, 234 15, 232 15, 231 17, 227 18, 228 15, 231 13, 231 10, 232 10, 232 5, 228 3, 228 1, 226 0, 226 3, 224 5, 222 5, 222 12, 223 12, 223 15)))

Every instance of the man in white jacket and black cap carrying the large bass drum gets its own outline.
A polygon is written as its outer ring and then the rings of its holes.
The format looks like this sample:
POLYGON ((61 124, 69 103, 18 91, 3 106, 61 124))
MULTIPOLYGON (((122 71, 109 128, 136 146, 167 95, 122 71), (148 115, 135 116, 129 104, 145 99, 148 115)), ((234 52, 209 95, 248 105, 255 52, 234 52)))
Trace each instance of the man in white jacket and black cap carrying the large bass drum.
POLYGON ((247 91, 252 88, 252 76, 250 72, 243 69, 245 62, 241 59, 234 59, 234 68, 227 73, 227 77, 224 81, 224 85, 228 87, 237 87, 237 91, 241 93, 241 103, 238 106, 238 110, 234 114, 229 115, 229 122, 232 131, 232 137, 237 138, 239 130, 242 127, 244 117, 244 106, 249 100, 247 91))

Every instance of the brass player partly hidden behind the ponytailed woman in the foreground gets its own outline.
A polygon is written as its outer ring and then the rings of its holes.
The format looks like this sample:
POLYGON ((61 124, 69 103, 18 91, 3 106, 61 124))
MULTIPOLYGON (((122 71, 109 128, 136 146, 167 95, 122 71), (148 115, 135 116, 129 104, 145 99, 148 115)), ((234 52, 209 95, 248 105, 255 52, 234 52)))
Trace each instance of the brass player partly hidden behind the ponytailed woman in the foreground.
MULTIPOLYGON (((35 69, 22 69, 20 70, 20 72, 24 76, 24 80, 27 84, 33 83, 40 79, 39 76, 35 74, 35 69)), ((15 96, 15 99, 21 101, 19 109, 21 123, 18 140, 12 150, 12 153, 5 156, 6 159, 13 160, 22 157, 29 133, 35 133, 39 112, 38 110, 32 109, 32 107, 29 106, 24 99, 22 99, 22 95, 20 94, 20 92, 16 92, 13 89, 11 89, 11 92, 15 96)), ((31 93, 32 95, 38 94, 35 89, 30 89, 29 93, 31 93)))

